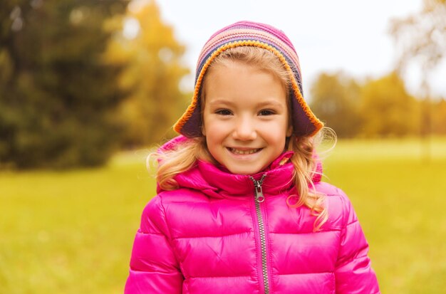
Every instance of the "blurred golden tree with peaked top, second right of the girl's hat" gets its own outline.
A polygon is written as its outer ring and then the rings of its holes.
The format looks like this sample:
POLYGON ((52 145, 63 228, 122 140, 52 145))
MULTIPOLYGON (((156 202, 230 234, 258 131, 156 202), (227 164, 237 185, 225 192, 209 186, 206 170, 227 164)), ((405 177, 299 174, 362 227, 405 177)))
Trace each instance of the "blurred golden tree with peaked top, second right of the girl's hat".
POLYGON ((418 132, 418 101, 410 96, 396 72, 369 80, 361 89, 361 117, 365 137, 402 137, 418 132))

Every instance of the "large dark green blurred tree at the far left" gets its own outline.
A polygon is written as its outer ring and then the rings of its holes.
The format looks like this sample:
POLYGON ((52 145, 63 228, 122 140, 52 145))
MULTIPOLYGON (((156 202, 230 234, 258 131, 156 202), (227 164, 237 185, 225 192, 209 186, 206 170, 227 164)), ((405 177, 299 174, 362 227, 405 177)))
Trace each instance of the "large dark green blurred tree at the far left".
POLYGON ((114 150, 120 66, 103 21, 124 1, 0 2, 0 166, 102 164, 114 150))

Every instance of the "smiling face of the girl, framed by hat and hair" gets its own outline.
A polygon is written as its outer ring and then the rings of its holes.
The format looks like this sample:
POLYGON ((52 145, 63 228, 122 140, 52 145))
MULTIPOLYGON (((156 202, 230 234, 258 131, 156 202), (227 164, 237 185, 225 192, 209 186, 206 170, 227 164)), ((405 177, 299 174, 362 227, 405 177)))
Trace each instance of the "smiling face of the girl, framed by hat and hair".
POLYGON ((233 174, 256 174, 284 152, 292 132, 281 80, 237 61, 214 65, 204 83, 207 148, 233 174))

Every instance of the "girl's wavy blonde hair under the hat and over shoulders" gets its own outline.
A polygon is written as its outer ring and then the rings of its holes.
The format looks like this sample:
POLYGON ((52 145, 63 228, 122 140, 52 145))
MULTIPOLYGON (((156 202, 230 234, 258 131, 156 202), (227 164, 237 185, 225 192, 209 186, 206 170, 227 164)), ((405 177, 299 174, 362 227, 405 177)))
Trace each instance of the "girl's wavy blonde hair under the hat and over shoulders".
MULTIPOLYGON (((213 66, 224 65, 231 61, 247 63, 261 70, 267 70, 279 78, 286 89, 289 89, 291 73, 284 68, 279 58, 266 49, 253 46, 240 46, 223 51, 212 61, 207 73, 209 73, 209 70, 212 70, 213 66)), ((200 95, 201 109, 204 108, 205 103, 203 90, 205 84, 206 76, 204 77, 200 95)), ((289 98, 286 103, 291 123, 291 103, 289 98)), ((326 128, 313 137, 296 137, 293 134, 289 140, 286 140, 286 150, 294 152, 291 157, 291 163, 294 165, 293 182, 298 191, 297 195, 291 194, 288 196, 286 204, 293 208, 306 206, 308 209, 311 209, 311 214, 316 216, 313 226, 314 231, 319 231, 328 219, 325 195, 318 193, 313 183, 313 177, 318 173, 316 168, 318 159, 315 157, 314 150, 323 139, 325 130, 326 128), (293 203, 293 199, 297 200, 293 203)), ((165 149, 151 154, 150 157, 152 156, 157 158, 159 162, 156 179, 160 188, 164 190, 177 189, 178 184, 174 177, 194 167, 197 164, 197 160, 217 164, 207 149, 205 137, 186 140, 175 145, 172 149, 165 149)))

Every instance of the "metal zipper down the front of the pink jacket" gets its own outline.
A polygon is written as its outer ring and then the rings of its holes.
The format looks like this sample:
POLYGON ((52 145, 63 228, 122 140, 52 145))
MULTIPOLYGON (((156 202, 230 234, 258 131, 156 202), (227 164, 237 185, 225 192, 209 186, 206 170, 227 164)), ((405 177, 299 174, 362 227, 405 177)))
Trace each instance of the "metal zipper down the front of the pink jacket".
POLYGON ((265 294, 269 294, 269 283, 268 283, 268 268, 266 265, 266 237, 265 237, 265 228, 264 221, 261 217, 260 204, 265 201, 265 196, 261 189, 261 184, 263 184, 266 174, 261 176, 259 181, 256 181, 253 177, 249 177, 252 182, 254 182, 254 196, 256 203, 256 213, 257 213, 257 221, 259 222, 259 233, 260 233, 260 244, 261 244, 261 271, 264 277, 264 288, 265 294))

